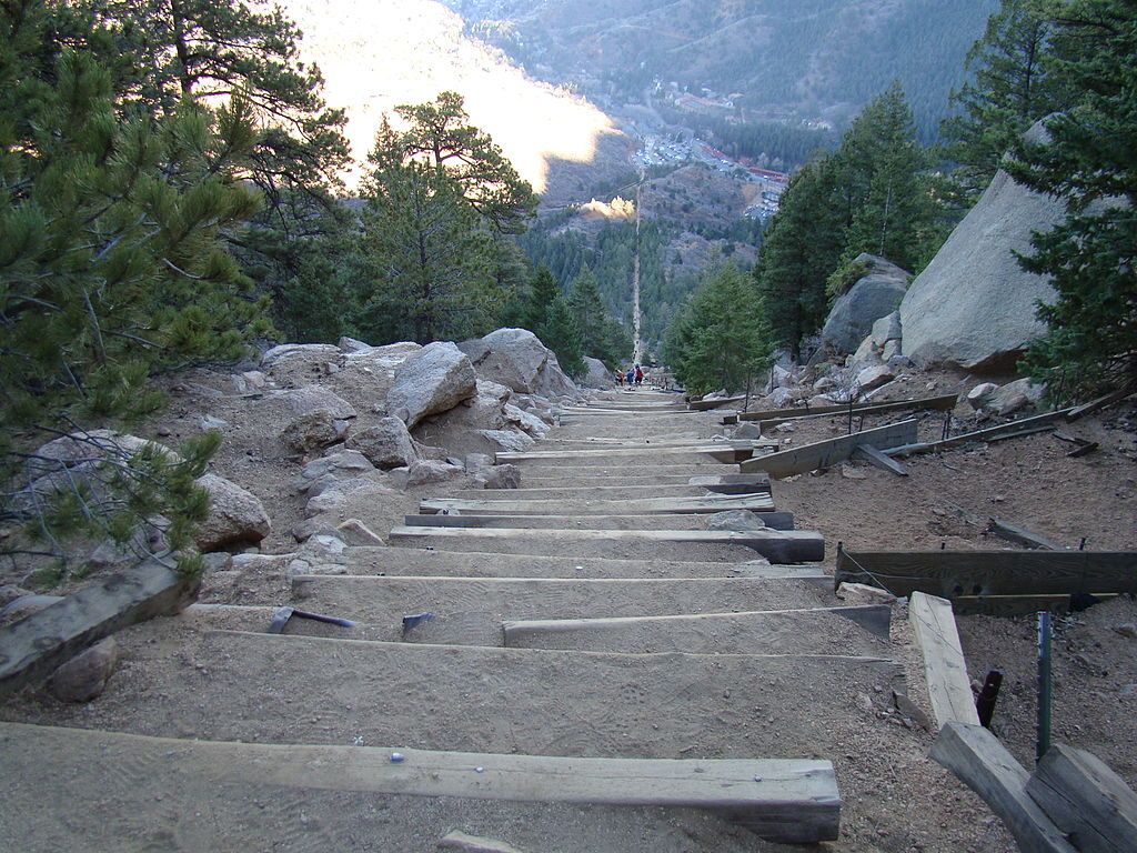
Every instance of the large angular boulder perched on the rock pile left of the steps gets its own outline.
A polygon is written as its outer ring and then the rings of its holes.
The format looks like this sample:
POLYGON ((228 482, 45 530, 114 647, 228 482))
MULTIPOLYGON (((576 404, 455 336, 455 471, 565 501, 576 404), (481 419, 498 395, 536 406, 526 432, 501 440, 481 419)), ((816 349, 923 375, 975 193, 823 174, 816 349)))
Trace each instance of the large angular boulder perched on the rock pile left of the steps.
POLYGON ((454 343, 435 342, 396 367, 387 408, 410 429, 476 394, 478 374, 466 354, 454 343))

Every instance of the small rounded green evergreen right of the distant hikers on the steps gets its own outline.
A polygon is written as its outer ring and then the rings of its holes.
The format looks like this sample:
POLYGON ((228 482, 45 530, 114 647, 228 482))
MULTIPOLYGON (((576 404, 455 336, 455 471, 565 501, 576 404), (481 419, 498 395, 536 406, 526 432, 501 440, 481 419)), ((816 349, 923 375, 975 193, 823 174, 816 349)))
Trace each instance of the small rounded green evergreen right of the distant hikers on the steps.
POLYGON ((664 358, 692 394, 741 391, 770 366, 772 332, 754 281, 732 265, 711 273, 667 331, 664 358))

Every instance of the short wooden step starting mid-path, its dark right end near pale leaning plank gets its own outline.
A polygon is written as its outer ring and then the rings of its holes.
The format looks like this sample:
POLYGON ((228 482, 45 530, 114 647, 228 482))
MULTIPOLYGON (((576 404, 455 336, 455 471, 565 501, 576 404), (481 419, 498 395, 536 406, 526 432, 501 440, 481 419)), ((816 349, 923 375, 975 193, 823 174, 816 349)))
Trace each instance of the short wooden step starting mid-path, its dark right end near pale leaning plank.
POLYGON ((862 654, 889 653, 891 607, 699 613, 614 619, 511 620, 513 648, 650 654, 862 654))

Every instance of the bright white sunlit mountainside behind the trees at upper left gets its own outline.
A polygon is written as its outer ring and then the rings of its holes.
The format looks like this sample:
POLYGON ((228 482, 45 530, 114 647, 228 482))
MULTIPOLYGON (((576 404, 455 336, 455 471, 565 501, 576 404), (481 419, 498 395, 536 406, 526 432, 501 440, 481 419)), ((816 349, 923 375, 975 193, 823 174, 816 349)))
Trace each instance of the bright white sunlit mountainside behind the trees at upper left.
POLYGON ((465 96, 473 123, 550 202, 587 201, 586 184, 626 172, 629 142, 603 111, 464 35, 463 20, 441 3, 283 0, 282 7, 304 32, 304 58, 324 74, 329 103, 347 109, 359 162, 385 110, 453 89, 465 96))

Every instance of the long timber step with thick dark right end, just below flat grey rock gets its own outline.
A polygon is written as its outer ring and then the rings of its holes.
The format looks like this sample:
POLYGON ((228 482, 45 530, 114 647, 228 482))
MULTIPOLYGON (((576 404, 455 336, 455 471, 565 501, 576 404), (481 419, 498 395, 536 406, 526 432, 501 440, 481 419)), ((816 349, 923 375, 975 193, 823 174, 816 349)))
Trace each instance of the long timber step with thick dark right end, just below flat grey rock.
POLYGON ((418 547, 431 541, 493 541, 503 548, 534 541, 563 543, 675 543, 687 545, 740 545, 772 563, 815 563, 825 558, 825 540, 812 530, 476 530, 463 528, 408 528, 391 530, 391 544, 418 547))

